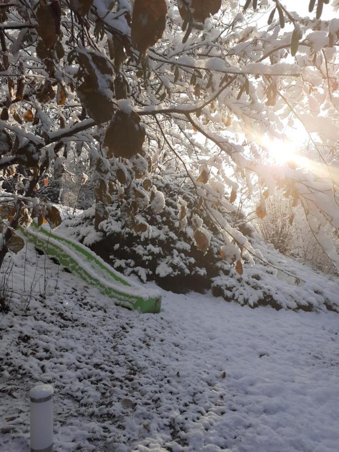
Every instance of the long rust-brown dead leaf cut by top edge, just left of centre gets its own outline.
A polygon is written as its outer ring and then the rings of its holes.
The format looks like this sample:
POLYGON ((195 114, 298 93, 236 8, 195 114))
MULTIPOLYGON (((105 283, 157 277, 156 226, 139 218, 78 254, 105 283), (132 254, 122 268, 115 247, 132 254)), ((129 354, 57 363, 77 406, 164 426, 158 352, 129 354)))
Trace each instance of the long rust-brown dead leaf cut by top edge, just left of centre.
POLYGON ((132 45, 143 55, 161 38, 166 26, 166 13, 165 0, 135 0, 131 26, 132 45))

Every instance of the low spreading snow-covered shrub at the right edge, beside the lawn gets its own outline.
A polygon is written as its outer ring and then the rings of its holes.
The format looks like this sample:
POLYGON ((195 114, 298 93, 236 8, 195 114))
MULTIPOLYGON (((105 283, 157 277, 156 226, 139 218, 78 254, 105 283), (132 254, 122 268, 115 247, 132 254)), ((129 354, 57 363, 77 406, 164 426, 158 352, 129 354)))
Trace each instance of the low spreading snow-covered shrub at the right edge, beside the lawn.
POLYGON ((222 272, 213 278, 211 288, 215 296, 251 307, 270 305, 305 311, 326 307, 339 312, 337 279, 328 279, 327 275, 281 255, 272 245, 257 246, 279 270, 257 262, 253 267, 244 265, 241 276, 234 269, 222 272))

